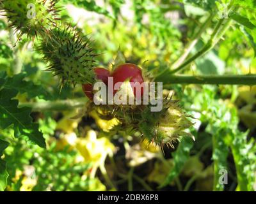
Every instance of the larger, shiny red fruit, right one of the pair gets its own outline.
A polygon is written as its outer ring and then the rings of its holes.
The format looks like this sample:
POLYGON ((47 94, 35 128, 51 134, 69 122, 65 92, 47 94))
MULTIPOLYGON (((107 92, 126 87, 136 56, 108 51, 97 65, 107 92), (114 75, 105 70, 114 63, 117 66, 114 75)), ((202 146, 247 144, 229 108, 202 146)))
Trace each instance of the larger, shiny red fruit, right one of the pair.
MULTIPOLYGON (((139 84, 142 84, 144 82, 141 69, 136 64, 130 64, 130 63, 121 64, 120 66, 118 66, 113 71, 113 73, 111 73, 111 77, 113 77, 113 80, 114 80, 114 87, 115 87, 116 83, 124 82, 125 80, 127 80, 127 78, 130 78, 130 83, 138 82, 139 84)), ((134 86, 134 88, 133 88, 134 96, 136 96, 136 87, 138 87, 138 85, 134 86)), ((120 87, 118 87, 118 88, 120 88, 120 87)), ((138 87, 138 89, 139 88, 140 88, 140 86, 138 87)), ((114 94, 116 92, 117 91, 114 90, 114 94)), ((143 96, 143 87, 141 87, 140 95, 143 96)), ((137 97, 138 96, 136 96, 136 98, 137 97)))

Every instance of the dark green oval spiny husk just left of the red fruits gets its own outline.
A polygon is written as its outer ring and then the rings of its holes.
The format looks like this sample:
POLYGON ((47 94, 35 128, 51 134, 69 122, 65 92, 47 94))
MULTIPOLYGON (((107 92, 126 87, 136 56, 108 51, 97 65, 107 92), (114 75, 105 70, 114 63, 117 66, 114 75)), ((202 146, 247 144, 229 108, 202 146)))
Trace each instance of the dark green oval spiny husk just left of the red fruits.
POLYGON ((70 25, 60 25, 43 36, 37 48, 49 62, 47 70, 60 77, 61 83, 93 84, 95 82, 94 50, 90 40, 70 25))

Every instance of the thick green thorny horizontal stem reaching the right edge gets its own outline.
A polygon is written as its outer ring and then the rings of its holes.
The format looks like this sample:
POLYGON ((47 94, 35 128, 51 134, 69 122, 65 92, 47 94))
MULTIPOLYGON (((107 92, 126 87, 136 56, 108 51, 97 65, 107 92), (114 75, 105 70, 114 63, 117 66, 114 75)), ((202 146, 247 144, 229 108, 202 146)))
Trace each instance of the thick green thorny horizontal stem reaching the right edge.
POLYGON ((256 75, 205 75, 205 76, 187 76, 170 75, 168 80, 163 80, 164 87, 166 83, 171 84, 215 84, 215 85, 256 85, 256 75))

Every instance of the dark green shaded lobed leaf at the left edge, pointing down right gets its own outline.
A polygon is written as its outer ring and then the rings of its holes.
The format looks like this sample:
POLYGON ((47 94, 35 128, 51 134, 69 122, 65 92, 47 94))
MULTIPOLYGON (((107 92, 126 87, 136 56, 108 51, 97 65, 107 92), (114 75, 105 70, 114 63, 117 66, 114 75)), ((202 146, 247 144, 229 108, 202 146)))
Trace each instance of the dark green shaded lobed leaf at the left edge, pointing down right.
POLYGON ((46 147, 45 140, 38 124, 32 122, 30 108, 17 108, 19 101, 12 99, 17 95, 15 89, 2 89, 0 91, 0 128, 13 125, 15 136, 27 136, 31 142, 40 147, 46 147))

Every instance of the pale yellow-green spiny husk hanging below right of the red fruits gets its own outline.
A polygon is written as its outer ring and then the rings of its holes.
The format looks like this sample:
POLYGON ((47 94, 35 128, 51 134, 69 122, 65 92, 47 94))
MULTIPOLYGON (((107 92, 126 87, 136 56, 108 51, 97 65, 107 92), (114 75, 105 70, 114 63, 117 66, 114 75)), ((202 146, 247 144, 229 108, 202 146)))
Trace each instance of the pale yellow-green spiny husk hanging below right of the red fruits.
POLYGON ((191 136, 194 139, 193 135, 184 131, 193 123, 188 120, 187 115, 182 112, 177 102, 172 99, 164 99, 161 112, 151 112, 149 107, 143 110, 139 123, 143 138, 161 147, 164 144, 173 147, 173 142, 179 141, 182 136, 191 136))

